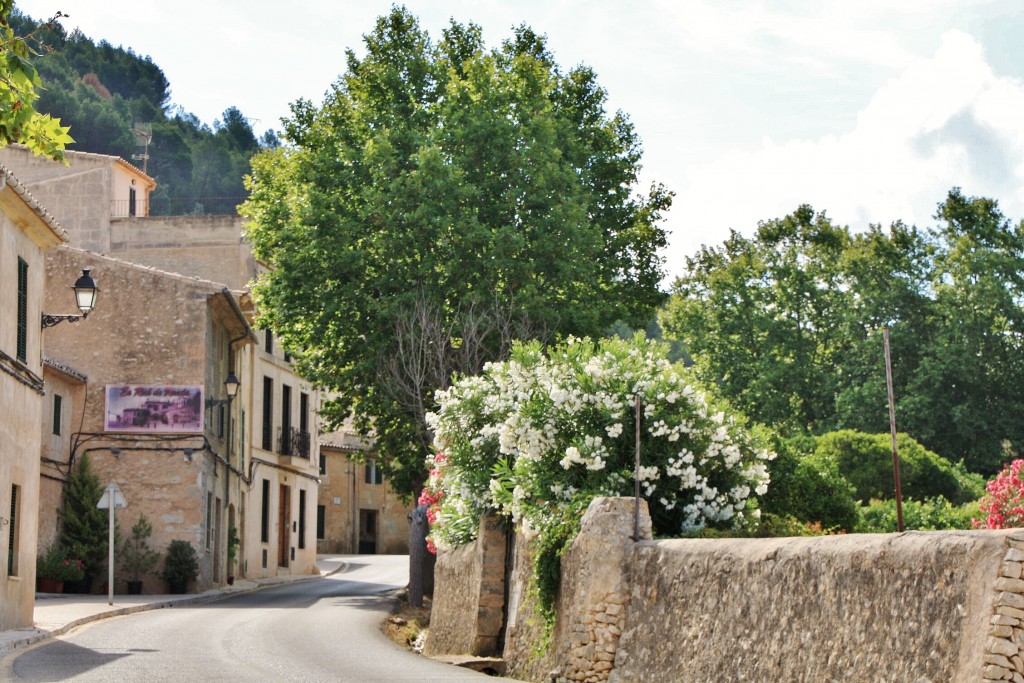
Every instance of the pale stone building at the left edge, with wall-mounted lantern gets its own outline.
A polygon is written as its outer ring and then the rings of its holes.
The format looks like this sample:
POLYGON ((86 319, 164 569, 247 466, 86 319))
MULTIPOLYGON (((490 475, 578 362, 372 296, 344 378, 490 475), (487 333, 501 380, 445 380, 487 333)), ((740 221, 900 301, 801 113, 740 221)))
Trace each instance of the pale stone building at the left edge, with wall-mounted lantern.
MULTIPOLYGON (((0 166, 0 631, 32 626, 43 388, 44 253, 68 238, 0 166)), ((81 272, 79 264, 66 285, 81 272)), ((62 290, 60 305, 73 299, 62 290)))

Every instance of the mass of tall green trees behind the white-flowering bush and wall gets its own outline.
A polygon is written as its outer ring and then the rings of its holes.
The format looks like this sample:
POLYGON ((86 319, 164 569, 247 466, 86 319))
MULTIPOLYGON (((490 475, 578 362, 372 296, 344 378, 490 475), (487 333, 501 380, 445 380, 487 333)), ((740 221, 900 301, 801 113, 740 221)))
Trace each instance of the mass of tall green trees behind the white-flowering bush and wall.
POLYGON ((752 418, 791 434, 889 428, 997 471, 1024 427, 1024 224, 951 190, 929 230, 852 234, 801 207, 688 258, 663 323, 752 418))

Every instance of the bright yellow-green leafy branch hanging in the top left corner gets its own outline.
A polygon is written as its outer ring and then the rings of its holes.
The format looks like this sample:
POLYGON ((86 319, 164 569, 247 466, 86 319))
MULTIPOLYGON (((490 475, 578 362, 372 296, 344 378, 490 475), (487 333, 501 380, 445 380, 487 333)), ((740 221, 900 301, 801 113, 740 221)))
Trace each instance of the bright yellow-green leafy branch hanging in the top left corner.
MULTIPOLYGON (((30 59, 34 36, 17 36, 8 17, 14 0, 0 0, 0 147, 12 142, 25 144, 36 155, 63 161, 65 146, 75 140, 59 119, 36 109, 42 89, 39 72, 30 59)), ((63 16, 60 12, 53 20, 63 16)))

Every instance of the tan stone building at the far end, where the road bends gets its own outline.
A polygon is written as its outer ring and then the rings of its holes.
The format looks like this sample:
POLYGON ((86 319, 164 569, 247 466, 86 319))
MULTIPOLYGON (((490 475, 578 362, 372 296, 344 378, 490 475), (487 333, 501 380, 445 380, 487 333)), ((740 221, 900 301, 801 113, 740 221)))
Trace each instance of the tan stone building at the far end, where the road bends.
POLYGON ((409 553, 412 502, 402 502, 372 457, 373 443, 351 430, 321 436, 316 548, 322 553, 409 553))

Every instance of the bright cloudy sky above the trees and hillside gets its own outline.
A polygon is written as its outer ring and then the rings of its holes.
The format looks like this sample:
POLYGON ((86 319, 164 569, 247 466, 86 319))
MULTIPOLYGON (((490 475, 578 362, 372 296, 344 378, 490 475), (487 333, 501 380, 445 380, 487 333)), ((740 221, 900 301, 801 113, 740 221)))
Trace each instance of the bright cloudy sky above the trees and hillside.
MULTIPOLYGON (((670 276, 730 229, 802 204, 854 230, 935 224, 958 186, 1024 219, 1019 0, 409 0, 435 38, 454 18, 488 45, 526 24, 563 68, 586 63, 644 148, 640 186, 676 195, 670 276)), ((148 55, 173 104, 257 135, 323 101, 384 0, 15 0, 35 18, 148 55)), ((74 131, 73 131, 74 134, 74 131)))

